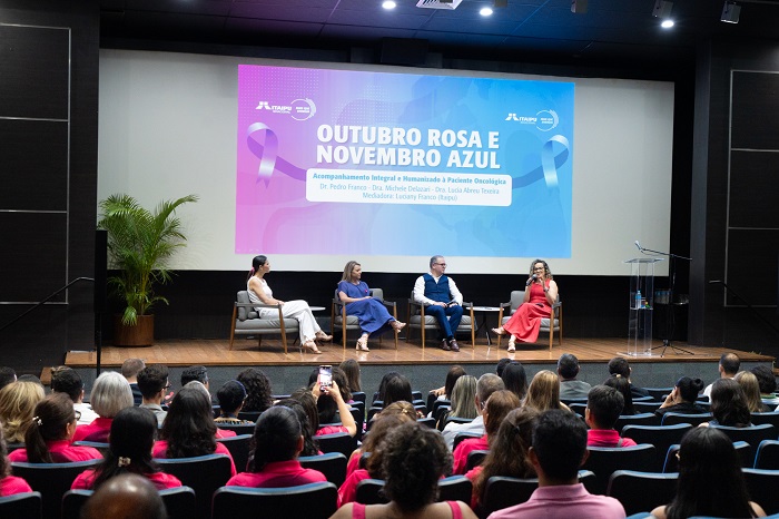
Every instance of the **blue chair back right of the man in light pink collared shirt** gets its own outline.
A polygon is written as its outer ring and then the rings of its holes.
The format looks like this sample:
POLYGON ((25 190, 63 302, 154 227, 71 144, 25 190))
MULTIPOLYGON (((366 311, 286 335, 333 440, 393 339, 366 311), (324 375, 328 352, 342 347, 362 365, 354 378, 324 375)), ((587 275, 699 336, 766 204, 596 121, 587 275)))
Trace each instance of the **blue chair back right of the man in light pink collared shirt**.
POLYGON ((609 478, 607 496, 618 499, 628 515, 668 505, 677 494, 678 473, 618 470, 609 478))

